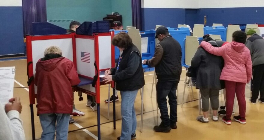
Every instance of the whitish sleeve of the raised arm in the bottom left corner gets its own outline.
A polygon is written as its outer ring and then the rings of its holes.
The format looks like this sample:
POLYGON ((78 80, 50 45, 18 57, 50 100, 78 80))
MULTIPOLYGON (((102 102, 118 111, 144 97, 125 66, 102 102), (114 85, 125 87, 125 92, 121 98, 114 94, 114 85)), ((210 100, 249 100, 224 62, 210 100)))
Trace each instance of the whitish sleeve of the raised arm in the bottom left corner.
POLYGON ((25 133, 22 127, 22 120, 19 119, 19 112, 11 110, 7 114, 0 102, 0 139, 4 140, 25 140, 25 133))

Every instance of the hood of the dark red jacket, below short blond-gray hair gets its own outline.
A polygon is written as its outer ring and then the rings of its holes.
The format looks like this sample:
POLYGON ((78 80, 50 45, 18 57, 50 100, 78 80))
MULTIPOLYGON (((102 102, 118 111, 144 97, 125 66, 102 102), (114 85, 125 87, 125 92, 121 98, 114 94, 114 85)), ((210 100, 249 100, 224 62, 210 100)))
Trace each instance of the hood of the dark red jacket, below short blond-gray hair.
POLYGON ((64 58, 65 57, 59 57, 59 58, 49 59, 45 61, 41 61, 41 59, 39 59, 38 61, 39 61, 40 67, 42 67, 44 70, 52 71, 57 67, 59 62, 64 58))

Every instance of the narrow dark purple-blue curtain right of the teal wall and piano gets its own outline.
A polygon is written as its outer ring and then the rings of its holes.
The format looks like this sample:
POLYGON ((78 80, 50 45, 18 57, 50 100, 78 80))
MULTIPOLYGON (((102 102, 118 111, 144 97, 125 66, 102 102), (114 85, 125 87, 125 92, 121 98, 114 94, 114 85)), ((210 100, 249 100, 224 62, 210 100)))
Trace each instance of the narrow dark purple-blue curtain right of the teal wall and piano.
POLYGON ((131 0, 132 25, 141 30, 141 0, 131 0))

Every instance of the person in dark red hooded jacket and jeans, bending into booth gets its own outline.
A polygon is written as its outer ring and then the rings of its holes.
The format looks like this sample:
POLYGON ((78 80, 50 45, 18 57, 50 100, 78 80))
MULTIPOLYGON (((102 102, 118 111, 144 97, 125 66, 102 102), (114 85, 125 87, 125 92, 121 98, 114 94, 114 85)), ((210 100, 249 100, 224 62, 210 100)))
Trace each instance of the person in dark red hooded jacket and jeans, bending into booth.
POLYGON ((38 112, 42 140, 67 140, 70 113, 73 109, 72 86, 80 83, 74 64, 62 57, 59 47, 46 48, 36 64, 34 83, 38 87, 38 112))

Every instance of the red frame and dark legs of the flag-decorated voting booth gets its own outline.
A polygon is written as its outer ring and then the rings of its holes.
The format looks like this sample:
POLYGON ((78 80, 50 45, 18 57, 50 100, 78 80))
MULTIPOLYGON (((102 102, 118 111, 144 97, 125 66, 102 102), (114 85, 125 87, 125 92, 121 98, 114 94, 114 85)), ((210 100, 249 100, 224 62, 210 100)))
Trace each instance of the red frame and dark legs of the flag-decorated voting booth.
MULTIPOLYGON (((46 35, 46 36, 26 36, 26 49, 27 49, 27 63, 28 63, 28 86, 29 86, 29 103, 30 103, 30 112, 31 112, 31 124, 32 124, 32 139, 35 140, 35 124, 34 124, 34 111, 33 111, 33 104, 35 104, 35 98, 37 98, 34 90, 34 79, 33 79, 33 64, 32 64, 32 41, 37 40, 50 40, 50 39, 72 39, 72 47, 73 47, 73 63, 77 69, 77 62, 76 62, 76 38, 81 39, 92 39, 94 40, 94 47, 95 47, 95 64, 98 68, 98 78, 95 82, 95 93, 82 89, 81 87, 73 87, 73 91, 82 92, 91 96, 95 96, 95 102, 97 103, 97 122, 98 122, 98 139, 101 139, 101 129, 100 129, 100 85, 109 84, 100 82, 99 72, 105 71, 107 69, 99 69, 99 36, 111 36, 111 40, 114 37, 114 32, 108 33, 95 33, 92 36, 88 35, 77 35, 75 33, 71 34, 62 34, 62 35, 46 35), (30 78, 32 79, 30 80, 30 78)), ((47 46, 49 47, 49 46, 47 46)), ((111 67, 115 67, 115 46, 111 44, 111 67)), ((95 75, 97 74, 97 70, 95 69, 95 75)), ((92 77, 87 77, 83 75, 79 75, 80 77, 84 77, 87 79, 93 80, 92 77)), ((113 93, 115 93, 114 82, 111 82, 111 87, 113 88, 113 93)), ((80 96, 81 97, 81 96, 80 96)), ((115 107, 115 100, 113 101, 113 126, 116 129, 116 107, 115 107)))

